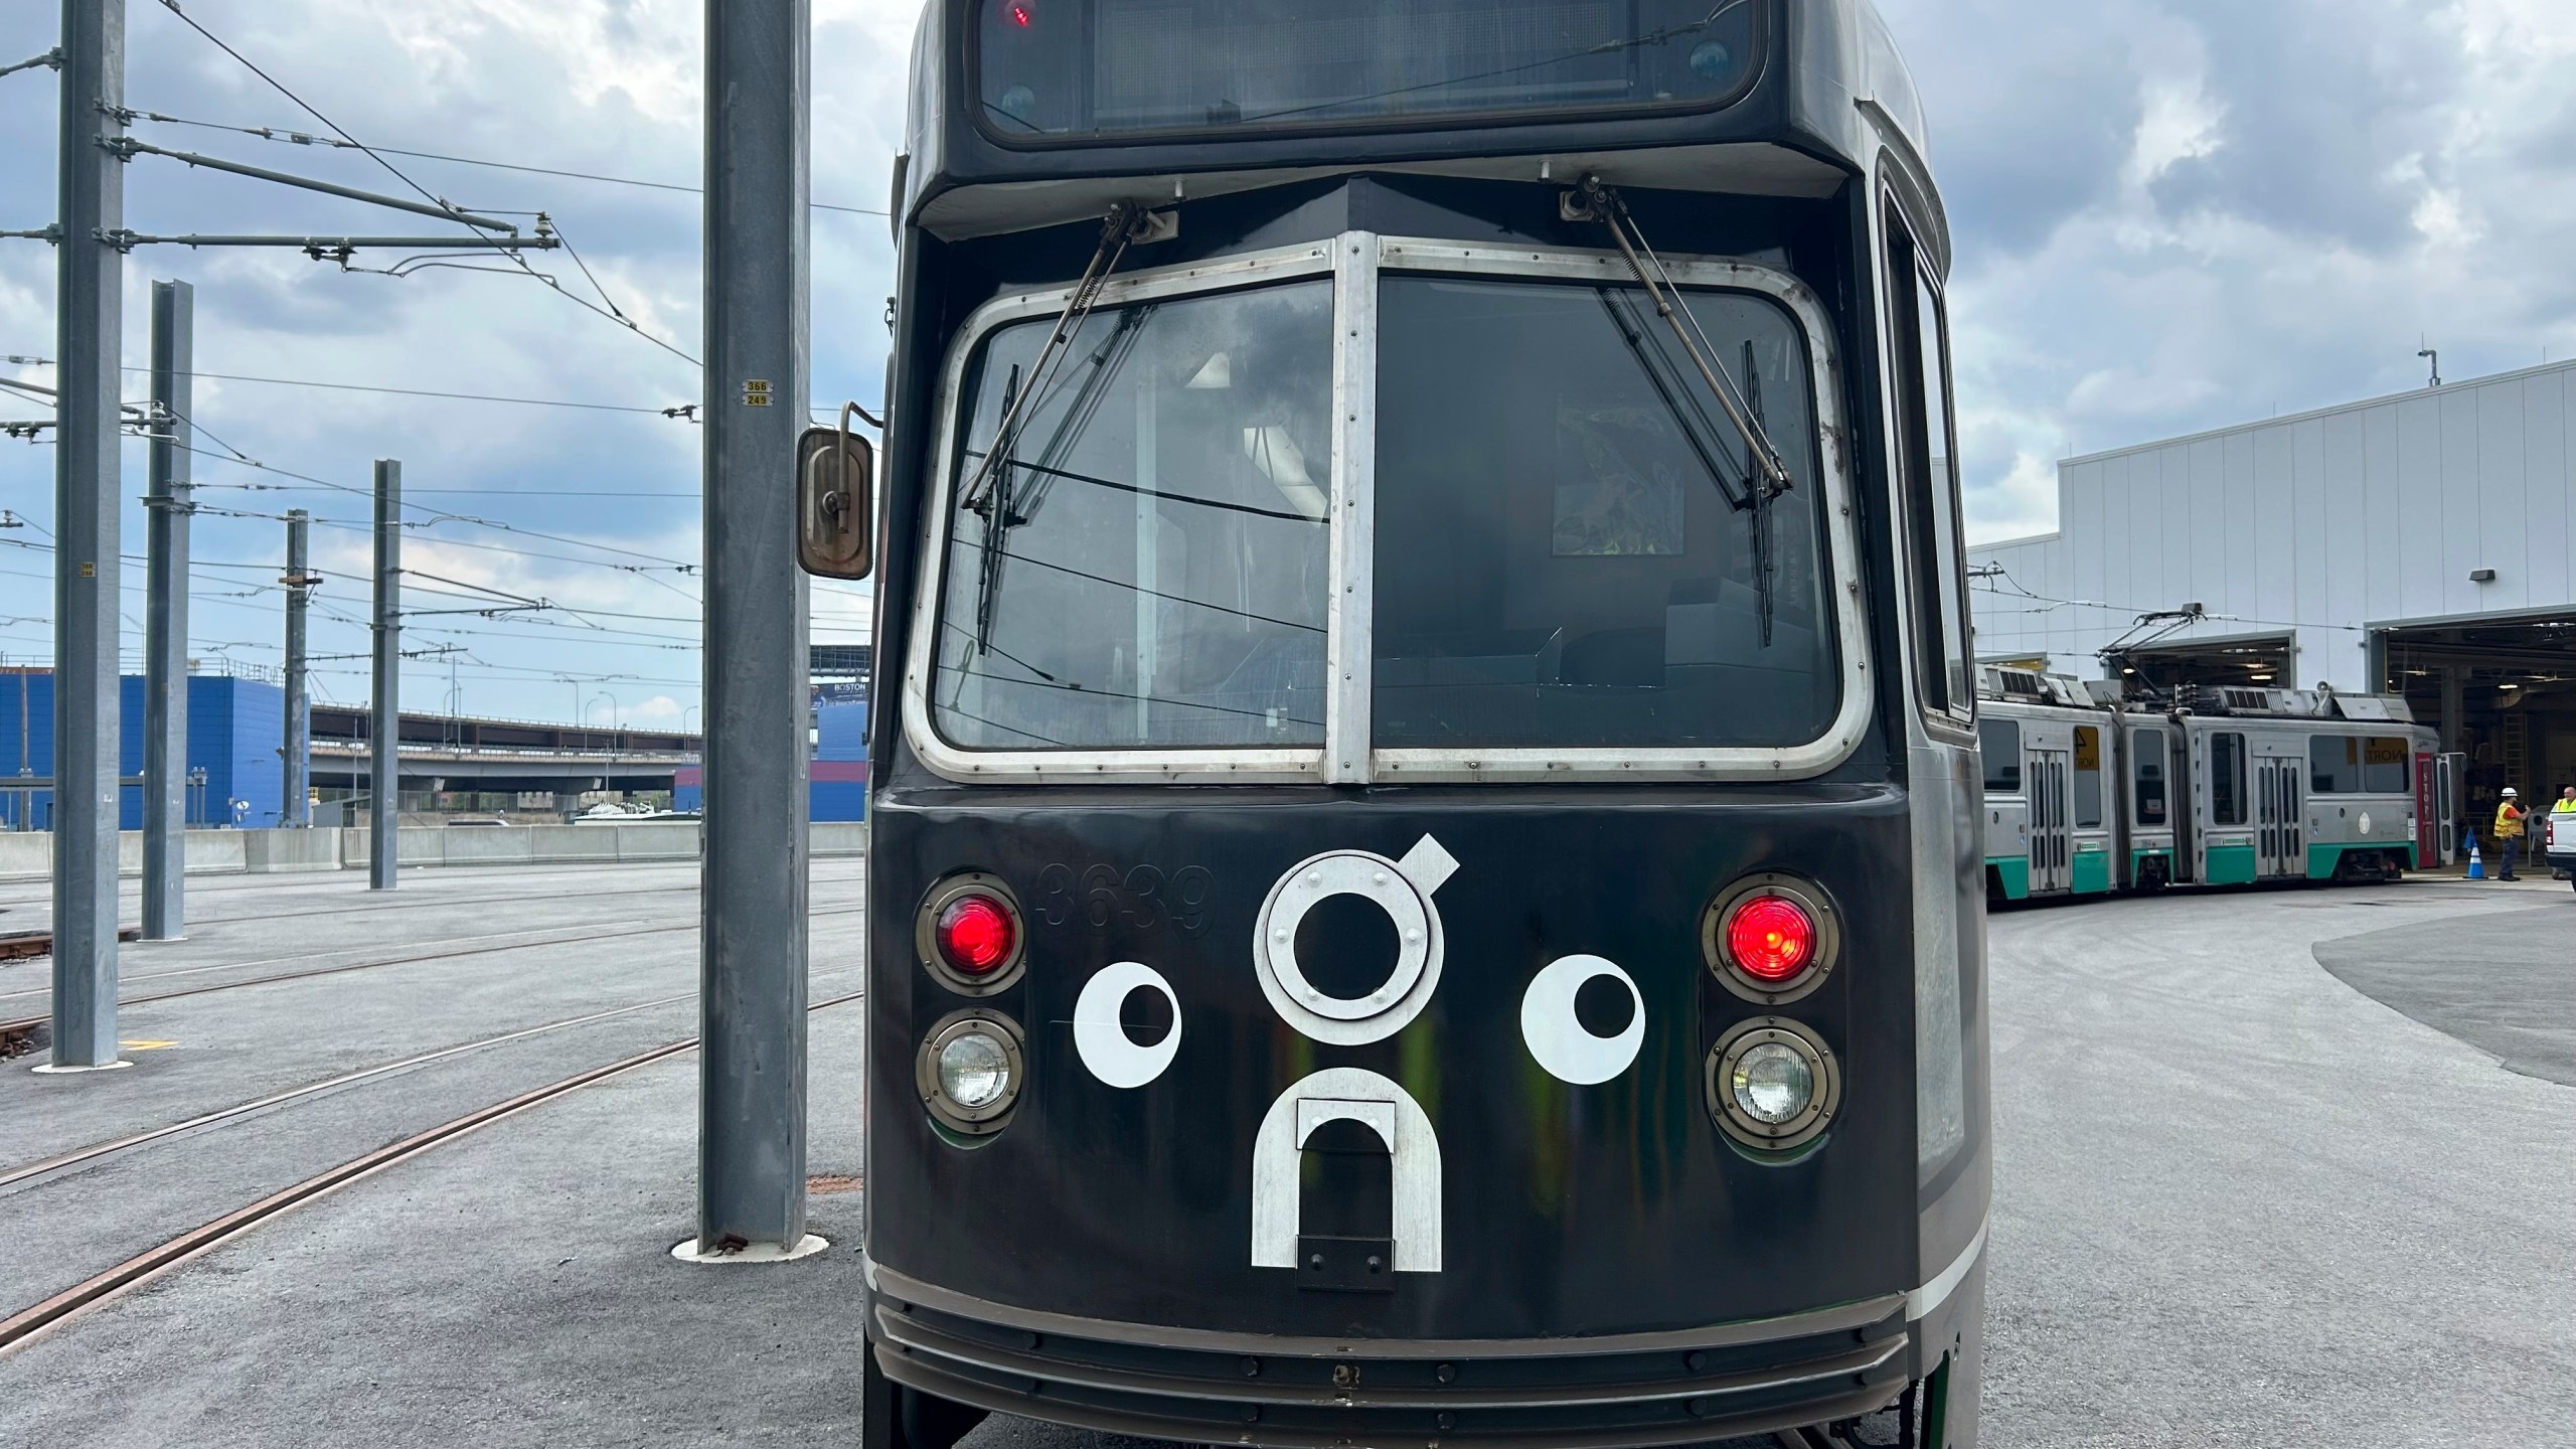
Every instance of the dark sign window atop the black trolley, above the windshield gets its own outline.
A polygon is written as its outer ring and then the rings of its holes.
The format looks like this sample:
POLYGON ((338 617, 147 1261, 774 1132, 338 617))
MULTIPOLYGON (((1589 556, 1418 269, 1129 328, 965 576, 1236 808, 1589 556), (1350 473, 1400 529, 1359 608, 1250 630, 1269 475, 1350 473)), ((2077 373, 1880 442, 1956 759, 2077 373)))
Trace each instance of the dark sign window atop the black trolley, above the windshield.
POLYGON ((1041 142, 1723 106, 1767 0, 984 0, 984 129, 1041 142))

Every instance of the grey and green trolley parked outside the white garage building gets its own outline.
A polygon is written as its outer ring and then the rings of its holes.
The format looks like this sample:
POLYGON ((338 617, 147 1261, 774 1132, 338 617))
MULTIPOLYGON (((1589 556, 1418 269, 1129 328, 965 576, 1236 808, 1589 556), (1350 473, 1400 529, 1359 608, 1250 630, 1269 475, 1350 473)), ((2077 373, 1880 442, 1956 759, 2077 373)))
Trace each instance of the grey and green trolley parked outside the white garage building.
POLYGON ((2445 856, 2455 773, 2403 696, 1978 670, 1986 897, 2388 882, 2445 856))

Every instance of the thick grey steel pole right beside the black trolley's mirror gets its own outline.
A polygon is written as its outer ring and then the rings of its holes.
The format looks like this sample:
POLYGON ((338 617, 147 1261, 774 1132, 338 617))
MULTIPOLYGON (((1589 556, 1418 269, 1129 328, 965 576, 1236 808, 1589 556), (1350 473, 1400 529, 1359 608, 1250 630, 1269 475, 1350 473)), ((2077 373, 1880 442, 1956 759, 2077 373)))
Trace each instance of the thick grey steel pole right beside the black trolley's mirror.
POLYGON ((806 418, 806 5, 706 3, 701 1256, 809 1245, 806 583, 791 503, 806 418))

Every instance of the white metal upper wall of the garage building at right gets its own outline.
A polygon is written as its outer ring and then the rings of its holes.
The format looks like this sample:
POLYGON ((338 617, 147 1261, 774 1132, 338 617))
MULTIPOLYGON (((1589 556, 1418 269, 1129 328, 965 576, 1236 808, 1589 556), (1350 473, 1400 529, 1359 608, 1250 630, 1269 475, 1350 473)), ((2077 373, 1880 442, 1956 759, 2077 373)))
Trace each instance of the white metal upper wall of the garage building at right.
POLYGON ((1981 655, 2094 673, 2133 614, 2197 598, 2231 619, 2184 637, 2295 624, 2298 683, 2360 688, 2370 624, 2576 606, 2576 364, 2069 459, 2058 508, 1971 549, 2043 596, 1981 583, 1981 655))

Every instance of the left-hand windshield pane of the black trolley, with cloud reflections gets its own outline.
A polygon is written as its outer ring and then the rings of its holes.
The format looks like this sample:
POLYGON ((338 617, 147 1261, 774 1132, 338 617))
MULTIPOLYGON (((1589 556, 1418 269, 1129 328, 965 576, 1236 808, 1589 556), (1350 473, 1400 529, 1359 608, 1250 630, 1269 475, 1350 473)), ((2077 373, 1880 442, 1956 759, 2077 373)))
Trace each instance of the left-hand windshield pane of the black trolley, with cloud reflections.
POLYGON ((1038 374, 1051 330, 999 327, 966 374, 940 735, 1321 745, 1332 284, 1100 307, 1038 374))

